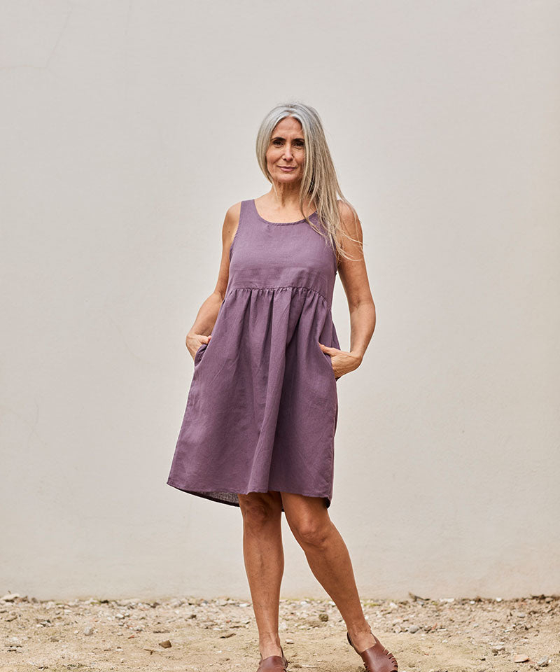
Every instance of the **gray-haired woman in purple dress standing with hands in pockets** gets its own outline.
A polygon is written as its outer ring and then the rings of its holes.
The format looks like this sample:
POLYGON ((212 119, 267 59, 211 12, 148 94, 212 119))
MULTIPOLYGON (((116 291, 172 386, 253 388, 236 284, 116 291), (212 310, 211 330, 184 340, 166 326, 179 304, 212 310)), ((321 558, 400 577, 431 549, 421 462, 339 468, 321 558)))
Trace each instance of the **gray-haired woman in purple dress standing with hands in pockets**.
POLYGON ((375 326, 360 223, 312 107, 270 111, 257 157, 272 188, 225 216, 218 283, 186 339, 195 371, 167 483, 241 509, 258 672, 288 665, 278 633, 282 512, 366 669, 395 672, 365 620, 348 550, 327 512, 336 381, 360 365, 375 326), (337 272, 350 351, 340 349, 332 323, 337 272))

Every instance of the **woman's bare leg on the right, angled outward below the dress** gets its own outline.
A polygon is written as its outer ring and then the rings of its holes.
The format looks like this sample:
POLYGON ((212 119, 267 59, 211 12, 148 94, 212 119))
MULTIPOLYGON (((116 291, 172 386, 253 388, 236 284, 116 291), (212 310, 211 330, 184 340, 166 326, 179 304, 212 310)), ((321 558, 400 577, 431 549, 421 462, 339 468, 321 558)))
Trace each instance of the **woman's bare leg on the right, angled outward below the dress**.
POLYGON ((318 582, 330 595, 358 651, 375 640, 363 614, 352 563, 322 497, 281 493, 286 520, 318 582))

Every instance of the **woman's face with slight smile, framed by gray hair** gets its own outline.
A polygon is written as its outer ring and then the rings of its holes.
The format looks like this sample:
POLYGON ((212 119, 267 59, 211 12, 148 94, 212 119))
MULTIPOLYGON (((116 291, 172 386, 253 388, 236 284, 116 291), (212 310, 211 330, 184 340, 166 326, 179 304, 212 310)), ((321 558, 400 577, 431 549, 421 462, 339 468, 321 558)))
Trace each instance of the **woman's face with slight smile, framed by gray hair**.
POLYGON ((270 136, 267 168, 274 181, 290 183, 302 179, 305 141, 302 125, 293 117, 279 121, 270 136))

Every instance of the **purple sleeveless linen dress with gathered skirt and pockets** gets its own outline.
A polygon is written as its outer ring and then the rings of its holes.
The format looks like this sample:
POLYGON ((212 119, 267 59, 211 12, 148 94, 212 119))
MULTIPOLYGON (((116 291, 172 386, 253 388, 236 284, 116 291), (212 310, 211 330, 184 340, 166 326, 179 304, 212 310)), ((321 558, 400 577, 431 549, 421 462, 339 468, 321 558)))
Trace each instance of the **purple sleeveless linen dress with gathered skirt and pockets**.
MULTIPOLYGON (((318 225, 316 212, 309 219, 318 225)), ((167 484, 239 506, 237 493, 332 499, 340 348, 335 253, 303 219, 263 219, 241 201, 230 274, 195 369, 167 484)), ((282 507, 283 511, 283 507, 282 507)))

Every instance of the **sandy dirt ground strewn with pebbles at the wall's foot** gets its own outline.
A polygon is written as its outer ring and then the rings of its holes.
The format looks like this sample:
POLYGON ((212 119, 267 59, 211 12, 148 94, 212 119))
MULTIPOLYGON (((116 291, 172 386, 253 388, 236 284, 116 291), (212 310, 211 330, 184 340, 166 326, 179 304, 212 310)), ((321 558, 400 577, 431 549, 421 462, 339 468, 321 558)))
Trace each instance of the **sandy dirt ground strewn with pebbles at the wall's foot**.
MULTIPOLYGON (((367 601, 372 631, 399 672, 560 669, 560 596, 367 601)), ((0 598, 0 670, 255 672, 260 654, 251 603, 220 599, 38 601, 0 598)), ((282 600, 288 670, 358 672, 328 600, 282 600)))

